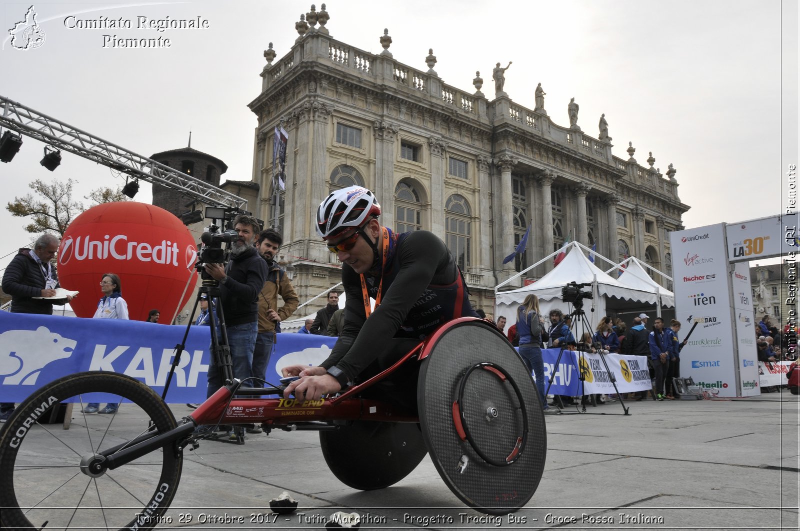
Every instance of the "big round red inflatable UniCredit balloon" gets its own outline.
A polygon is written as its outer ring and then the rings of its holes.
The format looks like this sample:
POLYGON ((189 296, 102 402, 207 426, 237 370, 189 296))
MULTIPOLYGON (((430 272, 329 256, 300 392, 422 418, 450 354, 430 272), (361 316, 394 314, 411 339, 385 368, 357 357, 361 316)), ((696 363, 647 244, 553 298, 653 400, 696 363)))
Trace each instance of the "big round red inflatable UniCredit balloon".
POLYGON ((138 202, 104 203, 70 223, 58 248, 58 280, 81 292, 70 305, 92 317, 102 297, 103 273, 119 275, 130 318, 144 321, 151 309, 170 323, 194 296, 197 246, 173 214, 138 202))

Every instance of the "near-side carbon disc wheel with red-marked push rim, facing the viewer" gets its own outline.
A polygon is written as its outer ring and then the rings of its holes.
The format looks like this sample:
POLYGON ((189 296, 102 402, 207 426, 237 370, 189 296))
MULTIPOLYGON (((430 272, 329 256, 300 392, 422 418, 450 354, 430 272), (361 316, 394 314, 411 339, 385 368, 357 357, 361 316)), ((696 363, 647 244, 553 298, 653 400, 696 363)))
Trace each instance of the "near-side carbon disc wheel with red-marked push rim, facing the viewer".
POLYGON ((442 327, 426 345, 418 403, 430 457, 466 505, 512 513, 542 479, 544 414, 522 358, 482 321, 442 327))

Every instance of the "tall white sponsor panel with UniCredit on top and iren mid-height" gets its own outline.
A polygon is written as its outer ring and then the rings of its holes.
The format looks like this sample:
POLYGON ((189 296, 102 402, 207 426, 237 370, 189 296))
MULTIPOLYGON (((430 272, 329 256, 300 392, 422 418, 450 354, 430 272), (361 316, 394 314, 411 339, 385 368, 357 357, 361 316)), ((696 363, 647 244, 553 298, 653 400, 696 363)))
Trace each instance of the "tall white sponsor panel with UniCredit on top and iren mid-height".
POLYGON ((697 324, 681 352, 681 376, 718 387, 720 396, 735 397, 737 367, 725 238, 725 224, 720 223, 672 232, 670 245, 681 337, 686 338, 697 324))

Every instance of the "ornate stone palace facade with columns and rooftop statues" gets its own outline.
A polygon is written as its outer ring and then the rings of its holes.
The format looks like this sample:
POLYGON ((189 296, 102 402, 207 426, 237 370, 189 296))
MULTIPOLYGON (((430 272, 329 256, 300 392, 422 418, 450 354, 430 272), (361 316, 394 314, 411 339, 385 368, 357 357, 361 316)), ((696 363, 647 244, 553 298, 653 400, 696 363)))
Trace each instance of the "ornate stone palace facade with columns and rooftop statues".
MULTIPOLYGON (((250 209, 270 222, 274 128, 289 136, 278 226, 302 300, 340 281, 313 217, 331 190, 351 184, 374 190, 387 226, 438 234, 462 266, 472 301, 487 311, 494 285, 558 249, 570 232, 609 258, 635 256, 671 273, 667 234, 682 229, 689 209, 672 165, 666 177, 652 154, 642 166, 630 144, 627 158, 614 156, 605 119, 599 137, 586 134, 577 105, 572 124, 559 126, 543 95, 534 110, 515 104, 502 91, 499 64, 490 100, 479 74, 473 90, 443 82, 432 50, 427 70, 417 70, 392 57, 386 31, 384 50, 371 54, 331 37, 328 18, 324 6, 312 9, 282 58, 270 43, 262 92, 250 103, 258 117, 253 180, 262 191, 250 209), (525 254, 503 266, 529 225, 525 254)), ((522 278, 507 287, 520 285, 522 278)))

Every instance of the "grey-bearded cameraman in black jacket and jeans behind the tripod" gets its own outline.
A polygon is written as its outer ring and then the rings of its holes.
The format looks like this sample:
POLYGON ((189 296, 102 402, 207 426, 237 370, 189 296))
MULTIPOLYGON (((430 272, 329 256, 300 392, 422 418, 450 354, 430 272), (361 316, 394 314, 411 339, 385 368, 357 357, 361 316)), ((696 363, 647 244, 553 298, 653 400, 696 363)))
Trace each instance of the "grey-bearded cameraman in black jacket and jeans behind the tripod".
MULTIPOLYGON (((234 377, 244 380, 253 376, 253 350, 258 333, 258 293, 266 281, 266 262, 253 246, 256 234, 261 230, 256 218, 239 214, 234 218, 234 229, 239 238, 233 243, 230 262, 209 264, 206 273, 219 281, 220 297, 218 313, 225 316, 230 357, 234 365, 234 377)), ((213 353, 212 353, 213 354, 213 353)), ((222 387, 222 373, 218 360, 211 357, 208 368, 207 397, 222 387)), ((252 385, 252 382, 248 382, 252 385)))

